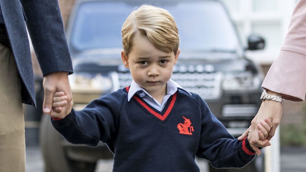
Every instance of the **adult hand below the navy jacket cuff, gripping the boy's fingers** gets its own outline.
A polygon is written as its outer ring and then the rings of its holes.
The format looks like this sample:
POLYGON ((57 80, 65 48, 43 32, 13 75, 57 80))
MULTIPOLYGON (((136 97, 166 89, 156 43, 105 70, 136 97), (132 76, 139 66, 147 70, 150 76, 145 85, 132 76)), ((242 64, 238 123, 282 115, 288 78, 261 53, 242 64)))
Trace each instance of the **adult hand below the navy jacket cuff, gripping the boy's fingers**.
POLYGON ((54 118, 64 118, 69 114, 68 112, 71 111, 73 105, 67 72, 48 74, 44 77, 42 84, 45 92, 42 105, 43 112, 54 118), (67 104, 61 108, 61 111, 54 111, 52 109, 53 95, 56 91, 64 91, 65 95, 67 95, 67 104))

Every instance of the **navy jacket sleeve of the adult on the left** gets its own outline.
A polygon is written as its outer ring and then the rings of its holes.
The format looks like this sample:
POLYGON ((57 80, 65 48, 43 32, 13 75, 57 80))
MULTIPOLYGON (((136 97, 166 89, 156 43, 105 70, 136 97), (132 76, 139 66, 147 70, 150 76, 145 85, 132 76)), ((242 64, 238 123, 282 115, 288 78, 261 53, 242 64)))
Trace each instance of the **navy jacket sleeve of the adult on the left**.
POLYGON ((73 73, 57 0, 21 0, 21 3, 43 76, 57 71, 73 73))

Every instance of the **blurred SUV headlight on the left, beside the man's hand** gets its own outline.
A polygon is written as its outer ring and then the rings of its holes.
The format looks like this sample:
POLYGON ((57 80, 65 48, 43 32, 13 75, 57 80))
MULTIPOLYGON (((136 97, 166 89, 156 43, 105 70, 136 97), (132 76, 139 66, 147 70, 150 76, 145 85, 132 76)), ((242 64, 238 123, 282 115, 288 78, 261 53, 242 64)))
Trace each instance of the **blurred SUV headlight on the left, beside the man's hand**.
POLYGON ((69 75, 69 83, 71 90, 79 93, 110 92, 113 86, 109 77, 102 76, 100 73, 92 76, 86 72, 69 75))

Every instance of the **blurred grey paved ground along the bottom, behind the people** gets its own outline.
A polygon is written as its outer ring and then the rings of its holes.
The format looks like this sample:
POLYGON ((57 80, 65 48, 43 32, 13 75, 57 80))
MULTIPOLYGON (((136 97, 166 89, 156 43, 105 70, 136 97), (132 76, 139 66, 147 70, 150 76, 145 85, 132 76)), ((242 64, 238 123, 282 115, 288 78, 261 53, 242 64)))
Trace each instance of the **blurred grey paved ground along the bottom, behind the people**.
MULTIPOLYGON (((306 171, 306 148, 284 148, 280 157, 281 172, 305 172, 306 171)), ((207 172, 207 162, 198 160, 197 164, 201 172, 207 172)), ((38 146, 27 147, 27 172, 44 172, 44 163, 38 146)), ((110 172, 111 160, 99 161, 96 172, 110 172)))

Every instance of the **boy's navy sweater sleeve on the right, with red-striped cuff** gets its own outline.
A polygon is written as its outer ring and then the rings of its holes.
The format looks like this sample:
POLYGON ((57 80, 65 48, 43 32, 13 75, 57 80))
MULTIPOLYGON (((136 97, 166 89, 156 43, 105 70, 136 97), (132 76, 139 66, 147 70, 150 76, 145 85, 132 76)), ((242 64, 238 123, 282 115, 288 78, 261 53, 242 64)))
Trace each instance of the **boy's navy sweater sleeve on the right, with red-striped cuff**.
POLYGON ((215 168, 241 168, 255 157, 248 139, 234 139, 200 98, 201 134, 197 157, 210 161, 215 168))

